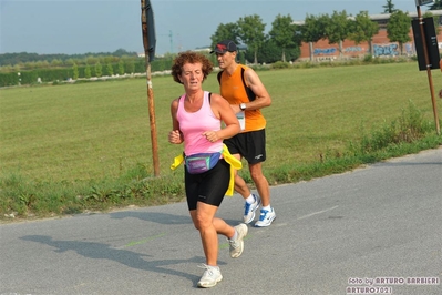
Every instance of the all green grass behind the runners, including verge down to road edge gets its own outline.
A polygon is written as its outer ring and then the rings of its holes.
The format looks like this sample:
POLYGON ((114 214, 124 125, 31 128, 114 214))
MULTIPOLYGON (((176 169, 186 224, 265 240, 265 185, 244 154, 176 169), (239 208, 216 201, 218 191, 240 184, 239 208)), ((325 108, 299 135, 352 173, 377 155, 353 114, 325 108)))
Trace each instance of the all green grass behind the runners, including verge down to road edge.
MULTIPOLYGON (((415 62, 285 69, 259 75, 273 98, 273 105, 264 110, 268 153, 264 169, 271 184, 442 144, 435 135, 428 77, 415 62), (417 114, 418 123, 424 124, 421 133, 426 134, 414 139, 421 143, 394 142, 395 125, 417 114), (386 144, 381 152, 361 152, 382 136, 395 148, 386 144)), ((217 92, 215 74, 204 85, 217 92)), ((169 170, 182 146, 169 144, 167 133, 169 103, 183 88, 171 77, 154 77, 153 90, 160 177, 153 177, 145 79, 1 89, 1 215, 182 200, 182 171, 169 170)), ((440 110, 439 99, 438 104, 440 110)), ((247 170, 240 173, 249 180, 247 170)))

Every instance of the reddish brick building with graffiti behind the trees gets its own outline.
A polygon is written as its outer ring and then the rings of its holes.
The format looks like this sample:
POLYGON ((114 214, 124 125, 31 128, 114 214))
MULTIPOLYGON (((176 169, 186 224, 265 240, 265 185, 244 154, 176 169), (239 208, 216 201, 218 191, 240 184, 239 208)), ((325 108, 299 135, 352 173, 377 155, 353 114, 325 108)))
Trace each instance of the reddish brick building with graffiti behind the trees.
MULTIPOLYGON (((439 48, 442 51, 442 10, 431 10, 433 16, 439 16, 440 33, 438 34, 439 48)), ((409 12, 412 19, 418 18, 418 12, 409 12)), ((424 14, 424 13, 422 13, 424 14)), ((399 43, 390 42, 387 34, 387 23, 390 19, 389 13, 373 14, 370 19, 379 24, 379 32, 372 38, 373 55, 374 57, 395 57, 401 53, 399 43)), ((304 21, 295 22, 302 26, 304 21)), ((410 26, 411 41, 403 44, 402 52, 407 55, 415 55, 414 37, 410 26)), ((315 43, 302 42, 300 48, 299 61, 310 60, 310 51, 315 61, 336 60, 340 57, 339 45, 329 44, 328 40, 319 40, 315 43)), ((370 54, 370 45, 368 42, 356 44, 354 41, 345 40, 342 42, 342 55, 345 59, 360 58, 370 54)))

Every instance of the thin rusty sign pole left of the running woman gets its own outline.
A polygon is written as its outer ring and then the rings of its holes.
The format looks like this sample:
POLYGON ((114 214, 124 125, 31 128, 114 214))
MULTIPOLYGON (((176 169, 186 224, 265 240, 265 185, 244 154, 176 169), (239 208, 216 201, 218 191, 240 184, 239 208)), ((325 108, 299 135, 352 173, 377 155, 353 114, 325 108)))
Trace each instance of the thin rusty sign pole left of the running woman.
POLYGON ((143 45, 144 57, 146 60, 146 82, 147 82, 147 103, 148 103, 148 118, 151 123, 151 143, 152 143, 152 159, 154 164, 154 175, 160 175, 160 161, 158 161, 158 143, 156 140, 156 121, 155 121, 155 105, 154 105, 154 91, 152 89, 151 77, 151 62, 148 60, 148 38, 147 38, 147 16, 146 16, 146 1, 141 0, 141 23, 143 30, 143 45))

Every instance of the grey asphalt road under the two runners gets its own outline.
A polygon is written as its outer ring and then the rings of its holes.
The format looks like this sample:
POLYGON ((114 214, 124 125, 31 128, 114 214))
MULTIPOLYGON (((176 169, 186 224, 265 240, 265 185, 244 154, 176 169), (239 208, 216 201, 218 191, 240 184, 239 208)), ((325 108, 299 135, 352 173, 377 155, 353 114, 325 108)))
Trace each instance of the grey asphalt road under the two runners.
MULTIPOLYGON (((277 218, 239 258, 219 236, 214 288, 196 287, 204 254, 177 203, 0 225, 0 294, 442 294, 442 148, 271 195, 277 218)), ((238 195, 218 211, 241 214, 238 195)))

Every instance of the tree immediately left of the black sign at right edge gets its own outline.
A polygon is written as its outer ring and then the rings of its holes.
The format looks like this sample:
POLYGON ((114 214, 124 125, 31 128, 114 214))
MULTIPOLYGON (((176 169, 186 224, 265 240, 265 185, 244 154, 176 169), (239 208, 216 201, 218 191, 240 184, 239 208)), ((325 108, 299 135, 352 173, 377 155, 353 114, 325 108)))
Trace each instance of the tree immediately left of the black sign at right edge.
POLYGON ((411 41, 410 38, 411 18, 402 10, 391 13, 390 21, 387 23, 387 34, 391 42, 398 42, 401 55, 403 43, 411 41))

